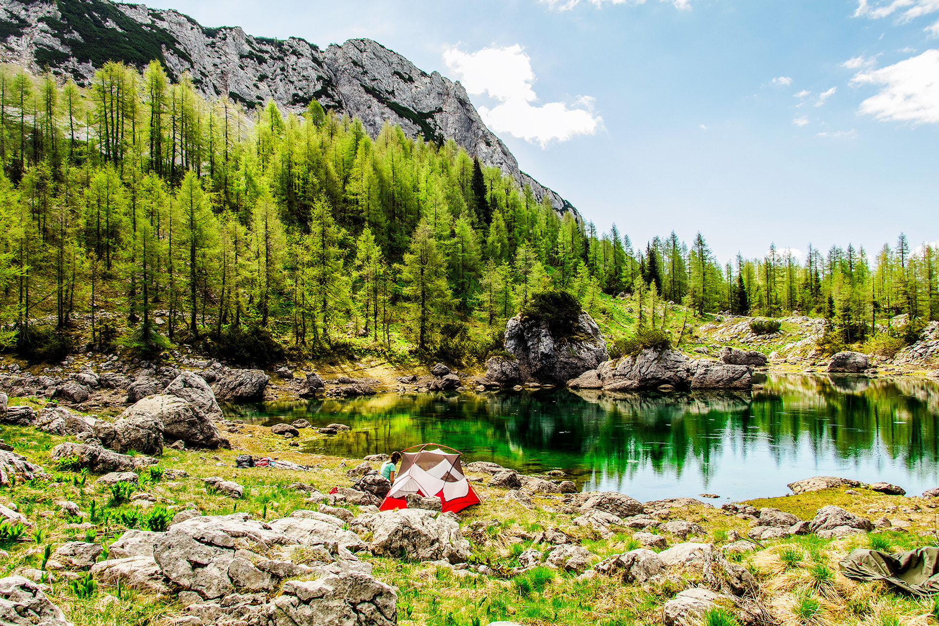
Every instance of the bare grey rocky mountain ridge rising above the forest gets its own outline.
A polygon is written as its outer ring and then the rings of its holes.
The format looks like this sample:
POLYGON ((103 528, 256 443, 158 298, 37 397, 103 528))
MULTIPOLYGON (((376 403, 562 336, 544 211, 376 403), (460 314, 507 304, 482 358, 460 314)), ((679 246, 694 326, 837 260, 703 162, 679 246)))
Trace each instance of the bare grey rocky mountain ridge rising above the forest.
POLYGON ((389 120, 427 141, 453 138, 519 185, 531 185, 539 201, 547 195, 559 212, 574 211, 579 219, 574 206, 518 169, 463 85, 370 39, 320 50, 301 38, 252 37, 238 26, 208 28, 175 10, 110 0, 0 0, 0 39, 0 61, 48 68, 82 85, 106 61, 143 69, 160 59, 173 79, 189 71, 204 95, 227 94, 249 109, 270 98, 300 111, 316 99, 359 117, 373 137, 389 120))

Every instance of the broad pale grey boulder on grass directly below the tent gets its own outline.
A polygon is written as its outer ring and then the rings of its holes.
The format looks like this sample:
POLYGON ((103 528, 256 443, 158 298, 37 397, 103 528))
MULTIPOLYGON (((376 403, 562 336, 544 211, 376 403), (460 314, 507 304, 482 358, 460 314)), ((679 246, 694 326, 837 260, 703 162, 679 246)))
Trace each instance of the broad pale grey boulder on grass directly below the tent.
POLYGON ((372 531, 368 549, 376 556, 422 561, 443 559, 451 563, 462 563, 469 558, 469 542, 450 515, 401 509, 380 511, 359 519, 372 531))

